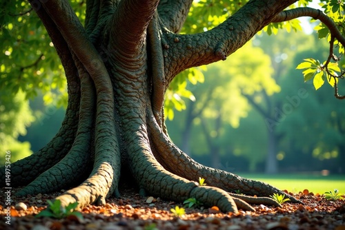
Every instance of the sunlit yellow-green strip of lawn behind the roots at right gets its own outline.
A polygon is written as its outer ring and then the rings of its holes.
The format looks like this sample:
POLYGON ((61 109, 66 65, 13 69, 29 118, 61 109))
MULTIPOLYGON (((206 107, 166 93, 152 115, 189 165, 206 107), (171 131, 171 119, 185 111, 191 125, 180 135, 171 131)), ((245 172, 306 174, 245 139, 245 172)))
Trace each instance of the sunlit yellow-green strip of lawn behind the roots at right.
POLYGON ((308 189, 314 194, 324 194, 325 191, 339 190, 339 194, 345 194, 345 175, 328 175, 320 174, 241 174, 244 178, 260 180, 278 189, 286 189, 293 193, 298 193, 308 189))

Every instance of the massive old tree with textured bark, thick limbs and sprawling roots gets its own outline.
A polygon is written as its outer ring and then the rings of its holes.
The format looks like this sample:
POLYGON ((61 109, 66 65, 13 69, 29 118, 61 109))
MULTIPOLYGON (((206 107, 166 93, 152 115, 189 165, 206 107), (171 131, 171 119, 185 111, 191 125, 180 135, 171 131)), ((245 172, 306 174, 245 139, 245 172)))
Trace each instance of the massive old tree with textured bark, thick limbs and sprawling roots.
MULTIPOLYGON (((26 185, 17 196, 73 187, 57 197, 62 205, 101 205, 108 196, 119 196, 121 170, 121 176, 135 179, 141 194, 178 201, 193 197, 222 211, 253 210, 242 201, 253 198, 228 194, 235 189, 248 195, 284 194, 263 182, 195 163, 171 143, 164 126, 164 92, 176 74, 226 59, 272 22, 301 16, 321 19, 332 38, 345 44, 321 11, 284 10, 295 0, 235 3, 242 7, 213 30, 179 34, 192 1, 90 0, 82 25, 66 0, 31 0, 61 59, 68 105, 55 138, 11 165, 11 186, 26 185), (210 186, 193 182, 199 177, 210 186)), ((20 13, 27 14, 30 10, 20 13)), ((25 42, 21 36, 16 39, 25 42)), ((37 55, 39 62, 43 56, 37 55)), ((10 81, 10 74, 3 79, 10 81)), ((5 185, 5 168, 0 176, 5 185)))

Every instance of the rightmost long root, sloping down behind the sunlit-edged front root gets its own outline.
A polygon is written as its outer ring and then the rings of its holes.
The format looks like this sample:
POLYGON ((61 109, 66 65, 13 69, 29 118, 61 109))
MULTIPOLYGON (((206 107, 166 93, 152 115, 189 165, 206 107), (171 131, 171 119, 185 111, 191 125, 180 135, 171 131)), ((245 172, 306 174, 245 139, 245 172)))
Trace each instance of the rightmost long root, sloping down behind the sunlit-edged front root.
MULTIPOLYGON (((218 187, 225 191, 235 191, 240 189, 243 193, 252 196, 284 194, 287 198, 290 198, 290 202, 302 203, 293 198, 293 196, 285 194, 284 191, 264 182, 248 180, 227 171, 213 169, 195 162, 195 160, 184 154, 183 151, 171 143, 168 137, 161 132, 161 129, 157 123, 155 123, 155 120, 152 119, 152 112, 148 111, 148 116, 148 127, 152 136, 151 145, 157 149, 157 152, 154 154, 159 162, 163 163, 166 169, 173 174, 177 174, 178 176, 184 177, 188 180, 197 180, 197 178, 202 177, 206 179, 207 185, 218 187)), ((264 202, 264 204, 266 204, 266 202, 270 203, 271 201, 268 199, 265 198, 261 201, 264 202)), ((251 200, 248 201, 251 202, 251 200)))

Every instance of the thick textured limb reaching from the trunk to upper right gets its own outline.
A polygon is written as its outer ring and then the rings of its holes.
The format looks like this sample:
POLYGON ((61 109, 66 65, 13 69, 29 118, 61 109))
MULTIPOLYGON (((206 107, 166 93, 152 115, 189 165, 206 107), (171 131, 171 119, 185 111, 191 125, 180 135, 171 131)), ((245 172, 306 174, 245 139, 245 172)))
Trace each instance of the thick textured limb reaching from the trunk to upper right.
POLYGON ((167 81, 189 67, 225 60, 294 2, 252 0, 213 30, 188 35, 166 32, 170 47, 165 60, 167 81))

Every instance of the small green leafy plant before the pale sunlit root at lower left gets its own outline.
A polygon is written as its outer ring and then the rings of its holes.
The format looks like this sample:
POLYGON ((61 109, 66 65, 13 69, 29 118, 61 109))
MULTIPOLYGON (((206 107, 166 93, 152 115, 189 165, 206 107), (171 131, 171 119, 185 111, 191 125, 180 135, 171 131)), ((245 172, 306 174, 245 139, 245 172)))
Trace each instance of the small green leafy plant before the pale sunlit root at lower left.
POLYGON ((70 203, 66 207, 61 206, 61 200, 55 200, 54 202, 51 202, 50 200, 48 202, 48 208, 41 211, 36 215, 36 217, 51 217, 51 218, 67 218, 70 216, 74 216, 78 220, 83 220, 83 215, 79 211, 74 211, 77 206, 78 202, 70 203))

